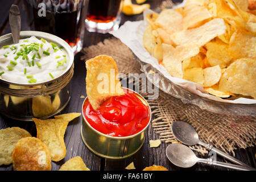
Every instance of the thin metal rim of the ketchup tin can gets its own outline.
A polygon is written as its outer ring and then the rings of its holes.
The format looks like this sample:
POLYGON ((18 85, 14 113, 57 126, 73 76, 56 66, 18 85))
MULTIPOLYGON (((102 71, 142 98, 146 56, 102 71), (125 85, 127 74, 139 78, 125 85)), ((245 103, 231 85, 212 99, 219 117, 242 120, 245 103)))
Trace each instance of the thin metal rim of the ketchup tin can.
MULTIPOLYGON (((100 135, 103 135, 104 137, 107 137, 107 138, 112 138, 112 139, 129 139, 129 138, 134 138, 134 137, 136 137, 137 135, 143 133, 143 131, 148 128, 148 126, 150 125, 151 114, 152 114, 152 113, 151 113, 151 107, 150 107, 150 105, 148 104, 147 100, 146 100, 144 97, 142 97, 141 94, 139 94, 138 92, 135 92, 134 90, 131 90, 131 89, 125 88, 125 87, 123 87, 123 89, 129 90, 129 92, 133 92, 133 93, 138 94, 138 95, 143 99, 144 103, 149 107, 149 110, 150 110, 150 119, 148 120, 147 125, 146 125, 141 131, 139 131, 138 133, 133 134, 133 135, 129 135, 129 136, 127 136, 127 137, 112 137, 112 136, 106 135, 106 134, 104 134, 104 133, 101 133, 100 131, 98 131, 98 130, 94 129, 92 126, 90 126, 89 122, 88 122, 88 121, 86 120, 86 118, 85 118, 84 111, 83 111, 83 107, 84 107, 85 101, 88 100, 88 97, 85 97, 84 102, 82 102, 82 118, 84 119, 84 121, 86 122, 86 124, 90 127, 90 129, 92 129, 92 130, 95 131, 96 133, 98 133, 98 134, 100 134, 100 135)), ((89 102, 89 101, 88 101, 88 102, 89 102)))

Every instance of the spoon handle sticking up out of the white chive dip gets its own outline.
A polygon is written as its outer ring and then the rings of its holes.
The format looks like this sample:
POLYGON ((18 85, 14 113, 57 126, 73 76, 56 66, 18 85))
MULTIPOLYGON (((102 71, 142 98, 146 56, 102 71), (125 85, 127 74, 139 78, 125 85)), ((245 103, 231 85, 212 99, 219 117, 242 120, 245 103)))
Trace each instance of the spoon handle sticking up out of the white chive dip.
POLYGON ((20 32, 20 13, 17 5, 11 5, 9 12, 9 23, 11 27, 11 35, 13 36, 13 43, 19 43, 20 32))

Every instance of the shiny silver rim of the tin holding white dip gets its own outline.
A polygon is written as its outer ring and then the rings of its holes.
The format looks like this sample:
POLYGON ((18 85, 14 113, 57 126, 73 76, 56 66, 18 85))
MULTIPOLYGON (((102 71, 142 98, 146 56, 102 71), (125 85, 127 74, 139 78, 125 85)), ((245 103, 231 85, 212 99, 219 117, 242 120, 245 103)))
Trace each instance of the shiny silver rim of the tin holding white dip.
MULTIPOLYGON (((74 53, 73 53, 71 47, 68 45, 68 43, 65 42, 65 40, 59 38, 56 35, 52 35, 52 34, 49 34, 47 32, 40 32, 40 31, 20 31, 20 36, 36 36, 38 38, 43 38, 43 39, 51 40, 52 42, 56 42, 57 44, 62 46, 65 49, 65 51, 67 51, 68 57, 69 57, 69 65, 65 69, 65 71, 63 73, 61 73, 61 75, 59 75, 56 78, 53 78, 52 80, 48 80, 48 81, 44 81, 44 82, 38 82, 38 83, 35 83, 35 84, 25 84, 25 83, 3 80, 1 78, 0 78, 0 82, 5 82, 6 84, 12 84, 12 85, 18 85, 18 86, 44 85, 44 84, 48 84, 50 82, 54 82, 54 81, 58 80, 59 78, 63 77, 71 69, 72 64, 74 62, 74 53)), ((12 38, 11 33, 0 36, 0 44, 3 41, 6 41, 6 40, 11 39, 11 38, 12 38)), ((1 45, 1 47, 2 46, 5 46, 5 45, 1 45)))

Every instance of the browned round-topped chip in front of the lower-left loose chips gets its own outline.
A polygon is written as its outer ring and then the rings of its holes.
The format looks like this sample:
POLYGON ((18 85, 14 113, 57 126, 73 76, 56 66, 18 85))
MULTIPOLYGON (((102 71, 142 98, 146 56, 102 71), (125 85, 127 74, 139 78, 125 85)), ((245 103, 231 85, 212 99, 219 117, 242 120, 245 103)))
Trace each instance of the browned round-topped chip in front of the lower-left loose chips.
POLYGON ((14 171, 51 171, 51 154, 35 137, 22 138, 13 150, 14 171))

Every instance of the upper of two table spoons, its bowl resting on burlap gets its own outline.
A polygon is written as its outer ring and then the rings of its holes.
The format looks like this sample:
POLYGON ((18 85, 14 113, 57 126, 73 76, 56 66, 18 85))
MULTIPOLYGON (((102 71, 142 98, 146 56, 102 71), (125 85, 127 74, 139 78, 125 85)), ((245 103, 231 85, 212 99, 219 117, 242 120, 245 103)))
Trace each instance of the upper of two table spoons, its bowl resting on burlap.
POLYGON ((177 140, 179 140, 184 144, 187 144, 189 146, 194 144, 200 144, 205 148, 207 148, 207 150, 216 152, 218 155, 221 155, 222 157, 228 159, 230 162, 250 168, 250 166, 248 166, 247 164, 242 163, 240 160, 233 158, 232 156, 222 152, 221 150, 218 150, 217 148, 213 147, 211 144, 207 144, 199 140, 196 130, 186 122, 183 122, 183 121, 174 122, 172 124, 172 133, 177 138, 177 140))

